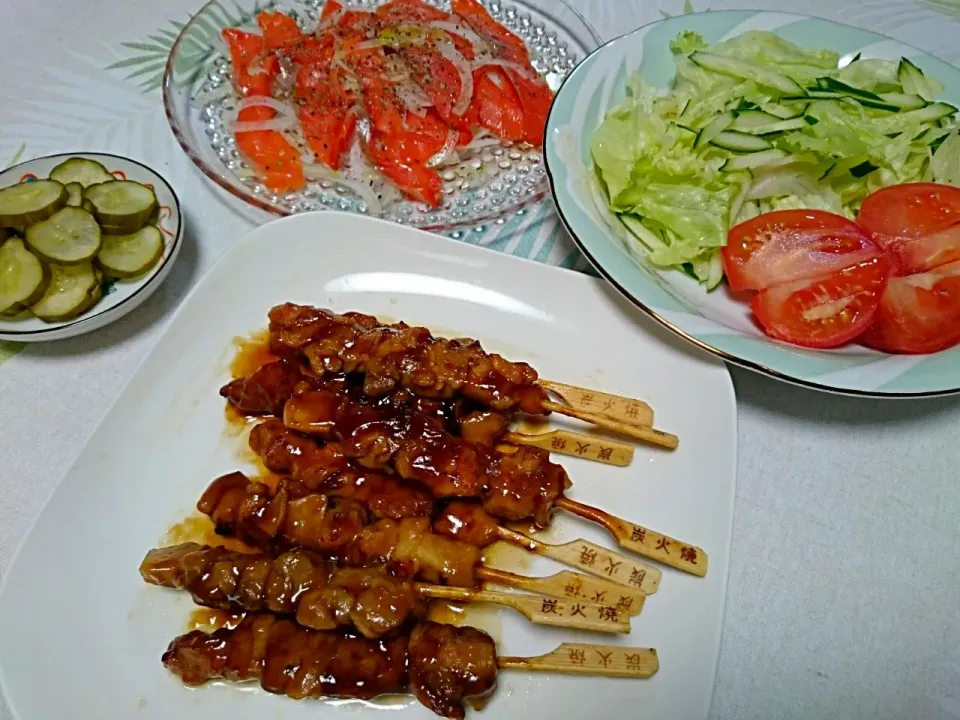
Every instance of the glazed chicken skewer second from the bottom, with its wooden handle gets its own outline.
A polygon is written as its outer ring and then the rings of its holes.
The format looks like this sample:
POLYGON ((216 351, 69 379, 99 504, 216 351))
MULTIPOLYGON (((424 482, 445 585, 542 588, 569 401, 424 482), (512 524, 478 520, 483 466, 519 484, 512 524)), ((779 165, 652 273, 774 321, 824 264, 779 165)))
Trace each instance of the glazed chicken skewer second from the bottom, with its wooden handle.
POLYGON ((341 568, 304 550, 279 557, 184 543, 147 553, 140 575, 152 585, 184 589, 206 607, 292 615, 304 627, 353 627, 369 638, 396 632, 426 614, 429 598, 511 607, 531 622, 597 632, 630 631, 616 606, 412 583, 380 568, 341 568))

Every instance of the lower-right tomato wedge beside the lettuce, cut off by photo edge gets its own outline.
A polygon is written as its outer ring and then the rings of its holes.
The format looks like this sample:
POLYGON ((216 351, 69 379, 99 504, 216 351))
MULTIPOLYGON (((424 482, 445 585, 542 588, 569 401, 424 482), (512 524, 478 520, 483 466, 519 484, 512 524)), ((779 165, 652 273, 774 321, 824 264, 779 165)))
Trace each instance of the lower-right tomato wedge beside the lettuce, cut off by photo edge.
POLYGON ((960 342, 960 262, 893 278, 860 342, 896 353, 931 353, 960 342))

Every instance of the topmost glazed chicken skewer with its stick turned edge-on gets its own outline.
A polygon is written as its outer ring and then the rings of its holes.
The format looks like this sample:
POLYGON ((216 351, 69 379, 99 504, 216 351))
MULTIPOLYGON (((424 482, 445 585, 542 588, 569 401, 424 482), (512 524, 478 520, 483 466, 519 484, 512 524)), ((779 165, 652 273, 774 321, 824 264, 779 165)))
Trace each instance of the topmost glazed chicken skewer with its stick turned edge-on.
POLYGON ((359 313, 338 315, 285 303, 270 310, 270 348, 284 357, 302 355, 318 375, 362 373, 372 397, 397 387, 425 397, 462 396, 493 410, 529 415, 557 412, 663 447, 676 436, 552 402, 527 363, 487 353, 475 340, 435 338, 422 327, 380 325, 359 313))

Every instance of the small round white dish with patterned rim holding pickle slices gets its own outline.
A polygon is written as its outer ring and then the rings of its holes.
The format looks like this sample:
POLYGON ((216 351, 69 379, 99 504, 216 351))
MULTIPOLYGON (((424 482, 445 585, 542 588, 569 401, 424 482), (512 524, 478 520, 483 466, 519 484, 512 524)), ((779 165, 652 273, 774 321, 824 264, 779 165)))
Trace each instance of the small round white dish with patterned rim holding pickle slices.
POLYGON ((72 320, 45 322, 29 313, 15 318, 0 317, 0 340, 17 342, 44 342, 82 335, 102 328, 123 317, 140 305, 160 287, 173 267, 183 244, 183 216, 180 201, 170 184, 156 172, 135 160, 104 153, 62 153, 27 160, 0 172, 0 187, 32 182, 45 178, 67 158, 95 160, 121 180, 135 180, 149 185, 157 195, 160 206, 157 226, 163 235, 163 255, 145 274, 130 280, 104 279, 100 287, 103 297, 92 308, 72 320))

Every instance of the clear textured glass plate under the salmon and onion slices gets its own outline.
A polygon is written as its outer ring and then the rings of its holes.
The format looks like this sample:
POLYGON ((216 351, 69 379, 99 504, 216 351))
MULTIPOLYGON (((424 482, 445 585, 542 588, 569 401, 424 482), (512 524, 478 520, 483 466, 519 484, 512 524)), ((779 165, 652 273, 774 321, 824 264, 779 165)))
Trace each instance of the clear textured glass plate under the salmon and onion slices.
MULTIPOLYGON (((449 10, 449 0, 427 0, 449 10)), ((173 134, 203 173, 236 198, 270 215, 314 210, 363 214, 367 204, 335 181, 308 181, 294 193, 275 193, 261 184, 237 151, 229 129, 237 98, 220 32, 255 28, 265 9, 282 10, 304 29, 313 29, 325 0, 212 0, 191 18, 173 45, 163 80, 163 102, 173 134)), ((383 0, 347 0, 372 9, 383 0)), ((556 91, 573 68, 600 42, 596 31, 563 0, 482 0, 497 21, 523 38, 533 65, 556 91)), ((453 230, 489 223, 541 202, 550 193, 540 148, 500 141, 459 153, 456 164, 438 168, 443 204, 431 208, 409 200, 385 204, 379 217, 425 230, 453 230)), ((262 219, 270 215, 257 213, 262 219)))

